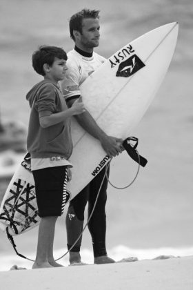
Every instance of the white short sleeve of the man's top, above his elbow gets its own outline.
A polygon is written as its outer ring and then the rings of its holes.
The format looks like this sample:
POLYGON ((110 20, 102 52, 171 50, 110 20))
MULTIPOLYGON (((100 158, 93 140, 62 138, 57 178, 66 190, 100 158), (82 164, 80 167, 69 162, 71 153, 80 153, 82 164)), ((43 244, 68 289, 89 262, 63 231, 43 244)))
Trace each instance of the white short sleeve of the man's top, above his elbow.
MULTIPOLYGON (((81 77, 81 67, 78 64, 69 64, 65 78, 60 82, 61 91, 65 101, 74 99, 75 96, 81 95, 79 89, 81 77)), ((75 97, 76 98, 76 97, 75 97)))

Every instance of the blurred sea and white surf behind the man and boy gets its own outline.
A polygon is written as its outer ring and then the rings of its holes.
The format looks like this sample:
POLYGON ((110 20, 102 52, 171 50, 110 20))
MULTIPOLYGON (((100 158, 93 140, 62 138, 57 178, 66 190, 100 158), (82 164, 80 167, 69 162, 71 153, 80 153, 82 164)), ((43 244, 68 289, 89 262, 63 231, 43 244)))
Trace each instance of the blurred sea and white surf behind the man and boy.
MULTIPOLYGON (((139 153, 148 159, 148 165, 141 168, 130 188, 119 191, 108 186, 107 247, 116 260, 129 255, 139 259, 192 255, 191 0, 1 0, 1 122, 17 121, 28 126, 26 93, 41 79, 32 68, 32 52, 40 44, 72 49, 68 19, 85 7, 101 10, 101 40, 96 52, 104 57, 149 30, 179 22, 179 39, 165 80, 131 134, 139 137, 139 153)), ((110 180, 116 186, 125 186, 136 171, 137 164, 123 153, 112 161, 110 180)), ((0 200, 8 182, 0 180, 0 200)), ((37 228, 14 240, 19 253, 34 258, 37 228)), ((56 258, 66 251, 65 213, 57 222, 54 249, 56 258)), ((93 262, 88 229, 83 233, 81 255, 84 262, 93 262)), ((68 264, 68 256, 61 263, 68 264)), ((6 234, 0 232, 0 271, 13 264, 28 269, 32 266, 32 262, 17 257, 6 234)))

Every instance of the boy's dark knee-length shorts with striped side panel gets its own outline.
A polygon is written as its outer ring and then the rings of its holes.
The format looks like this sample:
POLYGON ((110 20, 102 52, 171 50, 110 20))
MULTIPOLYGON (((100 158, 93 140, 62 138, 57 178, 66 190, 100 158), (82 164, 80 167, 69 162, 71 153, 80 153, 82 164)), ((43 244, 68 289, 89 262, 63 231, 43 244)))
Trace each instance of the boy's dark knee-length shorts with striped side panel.
POLYGON ((68 166, 55 166, 32 171, 41 218, 62 215, 67 169, 68 166))

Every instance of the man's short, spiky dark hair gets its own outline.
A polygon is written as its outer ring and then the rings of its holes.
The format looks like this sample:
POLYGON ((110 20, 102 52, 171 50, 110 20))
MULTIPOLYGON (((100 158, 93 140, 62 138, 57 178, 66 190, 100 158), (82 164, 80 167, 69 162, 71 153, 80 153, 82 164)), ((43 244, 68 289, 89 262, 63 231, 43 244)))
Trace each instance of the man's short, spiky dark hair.
POLYGON ((82 34, 82 21, 85 18, 99 19, 100 10, 90 10, 84 8, 83 10, 72 15, 69 21, 70 37, 75 40, 73 30, 77 30, 82 34))

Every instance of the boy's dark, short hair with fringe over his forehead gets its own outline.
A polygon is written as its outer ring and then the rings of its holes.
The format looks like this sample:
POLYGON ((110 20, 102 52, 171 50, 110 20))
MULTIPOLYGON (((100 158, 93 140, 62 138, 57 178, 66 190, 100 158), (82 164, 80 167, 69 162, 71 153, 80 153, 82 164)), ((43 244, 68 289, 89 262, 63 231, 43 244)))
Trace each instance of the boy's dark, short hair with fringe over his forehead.
POLYGON ((39 75, 44 76, 43 65, 48 64, 52 66, 55 57, 67 60, 67 55, 63 48, 58 48, 57 46, 39 46, 39 49, 32 55, 32 66, 39 75))

